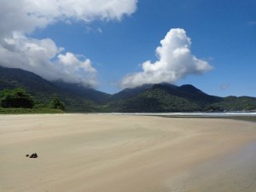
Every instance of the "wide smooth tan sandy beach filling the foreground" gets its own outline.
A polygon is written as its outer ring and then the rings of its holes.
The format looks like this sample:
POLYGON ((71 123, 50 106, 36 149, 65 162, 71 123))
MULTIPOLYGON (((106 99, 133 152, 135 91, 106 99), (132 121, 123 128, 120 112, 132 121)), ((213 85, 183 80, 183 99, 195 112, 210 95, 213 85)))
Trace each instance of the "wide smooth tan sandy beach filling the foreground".
POLYGON ((1 115, 0 191, 255 192, 255 141, 232 119, 1 115))

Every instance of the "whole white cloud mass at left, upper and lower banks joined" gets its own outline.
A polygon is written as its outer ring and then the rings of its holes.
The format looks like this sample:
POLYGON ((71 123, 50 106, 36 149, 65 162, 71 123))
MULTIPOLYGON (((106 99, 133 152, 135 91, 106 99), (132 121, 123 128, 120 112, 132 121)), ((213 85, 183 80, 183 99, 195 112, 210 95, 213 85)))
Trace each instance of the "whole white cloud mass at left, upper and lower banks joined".
POLYGON ((58 21, 121 20, 137 0, 0 0, 0 65, 22 68, 49 80, 96 85, 96 69, 84 56, 64 52, 54 40, 30 38, 58 21), (64 52, 64 53, 63 53, 64 52))

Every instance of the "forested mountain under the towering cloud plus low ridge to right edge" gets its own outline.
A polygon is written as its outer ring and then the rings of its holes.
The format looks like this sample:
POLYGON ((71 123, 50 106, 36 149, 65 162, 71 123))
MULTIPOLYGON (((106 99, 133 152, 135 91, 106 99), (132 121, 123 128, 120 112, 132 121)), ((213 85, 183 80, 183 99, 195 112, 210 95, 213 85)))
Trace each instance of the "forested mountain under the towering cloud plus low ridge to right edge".
POLYGON ((250 96, 210 96, 191 84, 148 84, 126 89, 109 102, 114 112, 195 112, 244 111, 256 109, 256 98, 250 96))

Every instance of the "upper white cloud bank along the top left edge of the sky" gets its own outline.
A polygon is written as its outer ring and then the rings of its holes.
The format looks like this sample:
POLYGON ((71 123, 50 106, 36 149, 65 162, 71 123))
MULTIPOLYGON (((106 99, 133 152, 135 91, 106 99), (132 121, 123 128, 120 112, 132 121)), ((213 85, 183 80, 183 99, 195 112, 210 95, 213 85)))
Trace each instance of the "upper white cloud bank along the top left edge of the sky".
POLYGON ((33 32, 58 20, 121 20, 137 0, 0 0, 0 34, 33 32))

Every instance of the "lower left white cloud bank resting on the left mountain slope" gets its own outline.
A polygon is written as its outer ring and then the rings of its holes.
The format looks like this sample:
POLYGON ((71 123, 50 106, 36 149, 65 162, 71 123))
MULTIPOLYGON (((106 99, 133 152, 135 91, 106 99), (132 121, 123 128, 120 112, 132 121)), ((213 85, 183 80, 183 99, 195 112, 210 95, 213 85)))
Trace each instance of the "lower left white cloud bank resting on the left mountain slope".
POLYGON ((3 67, 22 68, 37 73, 44 79, 70 83, 96 85, 96 69, 89 59, 67 52, 61 54, 49 38, 38 40, 15 33, 4 38, 0 46, 0 63, 3 67))

